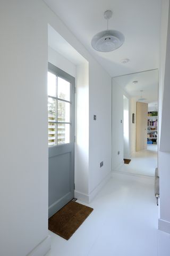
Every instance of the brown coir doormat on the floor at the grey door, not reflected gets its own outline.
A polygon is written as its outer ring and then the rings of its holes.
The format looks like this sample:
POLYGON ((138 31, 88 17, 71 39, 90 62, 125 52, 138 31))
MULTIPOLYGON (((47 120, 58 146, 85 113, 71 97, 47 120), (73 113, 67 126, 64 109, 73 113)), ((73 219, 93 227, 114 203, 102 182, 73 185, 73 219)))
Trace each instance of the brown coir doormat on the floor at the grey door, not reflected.
POLYGON ((48 229, 69 240, 93 210, 86 205, 71 201, 49 218, 48 229))

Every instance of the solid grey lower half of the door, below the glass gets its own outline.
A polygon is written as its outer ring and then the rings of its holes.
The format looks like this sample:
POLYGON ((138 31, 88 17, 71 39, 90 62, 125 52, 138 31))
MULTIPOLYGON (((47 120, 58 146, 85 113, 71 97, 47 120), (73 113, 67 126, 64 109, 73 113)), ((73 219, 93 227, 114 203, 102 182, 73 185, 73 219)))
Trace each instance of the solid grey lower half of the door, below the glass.
POLYGON ((74 197, 74 146, 49 148, 49 218, 74 197))

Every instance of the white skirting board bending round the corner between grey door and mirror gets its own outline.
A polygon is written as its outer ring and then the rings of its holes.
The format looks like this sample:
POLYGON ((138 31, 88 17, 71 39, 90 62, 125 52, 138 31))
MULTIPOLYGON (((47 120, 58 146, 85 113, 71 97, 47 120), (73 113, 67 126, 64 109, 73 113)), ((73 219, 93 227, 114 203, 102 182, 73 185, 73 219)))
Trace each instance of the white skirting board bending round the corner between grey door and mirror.
POLYGON ((99 185, 90 192, 89 195, 83 194, 77 190, 74 191, 74 197, 79 199, 80 201, 84 203, 90 203, 92 199, 99 193, 101 188, 112 178, 112 174, 109 173, 103 181, 99 183, 99 185))

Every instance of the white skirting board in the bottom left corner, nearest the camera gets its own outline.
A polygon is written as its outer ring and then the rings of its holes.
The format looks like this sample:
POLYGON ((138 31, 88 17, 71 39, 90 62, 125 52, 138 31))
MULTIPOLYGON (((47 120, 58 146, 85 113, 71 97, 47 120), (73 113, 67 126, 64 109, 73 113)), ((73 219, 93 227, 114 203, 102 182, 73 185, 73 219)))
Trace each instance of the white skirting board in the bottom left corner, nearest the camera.
POLYGON ((51 248, 50 236, 47 236, 40 244, 38 244, 27 256, 45 256, 51 248))

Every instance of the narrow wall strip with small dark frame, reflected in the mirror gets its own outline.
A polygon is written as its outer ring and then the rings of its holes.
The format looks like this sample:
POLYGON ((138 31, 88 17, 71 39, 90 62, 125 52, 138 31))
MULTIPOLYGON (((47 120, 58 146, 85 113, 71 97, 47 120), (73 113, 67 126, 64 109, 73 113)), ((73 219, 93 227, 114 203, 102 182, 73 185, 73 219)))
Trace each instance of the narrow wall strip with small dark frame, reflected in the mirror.
POLYGON ((135 99, 131 99, 131 154, 134 154, 136 151, 136 138, 137 138, 137 130, 136 130, 136 118, 137 118, 137 102, 135 99), (135 114, 135 123, 132 123, 132 114, 135 114))

